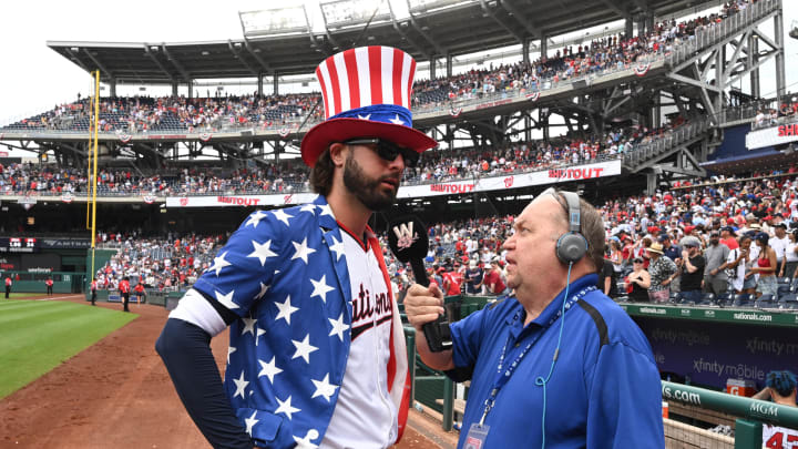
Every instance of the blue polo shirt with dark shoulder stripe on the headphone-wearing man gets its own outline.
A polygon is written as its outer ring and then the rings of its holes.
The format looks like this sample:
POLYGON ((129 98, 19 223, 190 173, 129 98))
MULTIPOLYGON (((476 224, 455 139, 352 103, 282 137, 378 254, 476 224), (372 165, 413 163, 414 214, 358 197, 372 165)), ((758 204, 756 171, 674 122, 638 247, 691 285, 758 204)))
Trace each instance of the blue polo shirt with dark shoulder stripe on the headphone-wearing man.
MULTIPOLYGON (((583 276, 571 284, 569 296, 596 282, 594 274, 583 276)), ((483 447, 541 446, 544 400, 535 379, 549 374, 563 322, 549 323, 562 307, 564 294, 526 327, 525 312, 514 297, 451 324, 454 366, 458 373, 471 371, 472 380, 458 448, 463 447, 471 424, 482 417, 497 377, 534 338, 485 418, 490 431, 483 447)), ((664 448, 659 374, 637 325, 598 290, 584 295, 564 318, 559 360, 545 390, 546 448, 664 448)), ((454 370, 450 376, 456 377, 454 370)))

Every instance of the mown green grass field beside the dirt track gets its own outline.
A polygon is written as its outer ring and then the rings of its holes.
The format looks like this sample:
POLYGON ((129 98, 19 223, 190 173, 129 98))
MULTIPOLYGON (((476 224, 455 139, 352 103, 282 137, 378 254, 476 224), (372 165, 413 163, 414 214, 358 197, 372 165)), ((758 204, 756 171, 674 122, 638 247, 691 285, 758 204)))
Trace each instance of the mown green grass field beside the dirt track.
POLYGON ((0 399, 136 316, 74 303, 0 299, 0 399))

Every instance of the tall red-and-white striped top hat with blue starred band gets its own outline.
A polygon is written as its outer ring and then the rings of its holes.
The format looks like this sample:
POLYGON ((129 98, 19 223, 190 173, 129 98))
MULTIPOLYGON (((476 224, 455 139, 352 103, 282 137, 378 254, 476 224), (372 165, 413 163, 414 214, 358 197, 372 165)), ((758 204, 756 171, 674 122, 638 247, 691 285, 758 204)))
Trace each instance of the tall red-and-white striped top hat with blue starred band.
POLYGON ((309 166, 334 142, 381 137, 419 153, 438 146, 412 127, 410 95, 416 61, 390 47, 359 47, 327 58, 316 69, 321 85, 325 121, 301 142, 309 166))

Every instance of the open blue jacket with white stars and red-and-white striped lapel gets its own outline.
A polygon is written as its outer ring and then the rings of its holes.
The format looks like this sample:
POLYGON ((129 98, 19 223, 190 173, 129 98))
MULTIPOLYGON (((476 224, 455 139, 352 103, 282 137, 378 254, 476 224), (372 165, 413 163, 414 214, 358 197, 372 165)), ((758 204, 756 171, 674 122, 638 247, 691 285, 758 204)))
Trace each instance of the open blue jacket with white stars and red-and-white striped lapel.
MULTIPOLYGON (((374 234, 370 244, 379 248, 374 234)), ((387 273, 381 252, 376 254, 387 273)), ((239 317, 229 329, 224 387, 258 446, 316 447, 324 438, 351 341, 346 257, 340 227, 318 196, 303 206, 249 215, 194 284, 239 317)), ((410 378, 401 319, 391 303, 386 369, 400 438, 410 378)))

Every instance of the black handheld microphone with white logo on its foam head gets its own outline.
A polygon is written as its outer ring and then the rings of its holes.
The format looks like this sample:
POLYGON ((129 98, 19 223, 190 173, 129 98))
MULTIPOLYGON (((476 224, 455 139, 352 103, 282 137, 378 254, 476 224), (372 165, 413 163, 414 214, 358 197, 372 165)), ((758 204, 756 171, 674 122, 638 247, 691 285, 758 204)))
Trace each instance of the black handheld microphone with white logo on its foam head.
MULTIPOLYGON (((423 258, 429 249, 427 226, 416 216, 397 218, 388 226, 388 245, 401 263, 410 263, 418 284, 429 287, 423 258)), ((451 349, 451 333, 446 314, 423 325, 427 346, 432 353, 451 349)))

